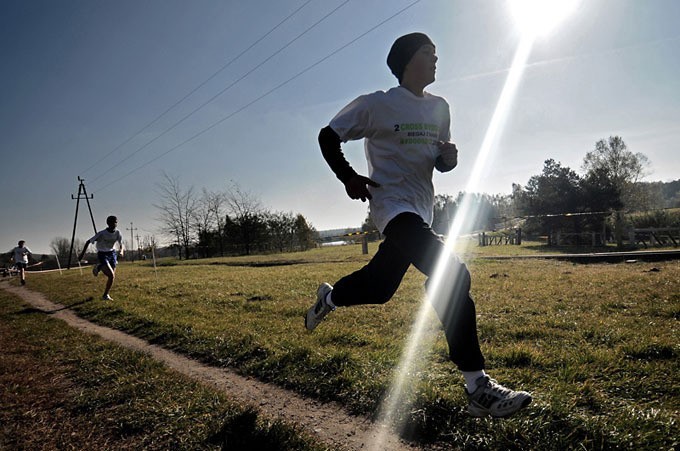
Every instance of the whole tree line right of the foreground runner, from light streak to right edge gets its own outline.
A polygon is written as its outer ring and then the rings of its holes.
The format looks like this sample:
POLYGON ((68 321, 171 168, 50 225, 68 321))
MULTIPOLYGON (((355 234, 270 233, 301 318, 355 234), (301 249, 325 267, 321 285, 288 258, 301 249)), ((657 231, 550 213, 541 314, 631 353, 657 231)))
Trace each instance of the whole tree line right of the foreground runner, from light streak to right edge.
MULTIPOLYGON (((511 224, 508 221, 512 218, 524 218, 522 227, 528 234, 548 235, 554 230, 601 233, 604 229, 620 242, 622 231, 631 225, 626 223, 631 222, 630 216, 624 218, 623 211, 680 207, 680 180, 643 182, 648 166, 647 157, 631 152, 621 137, 602 139, 586 153, 583 175, 548 159, 543 171, 532 176, 525 186, 513 184, 511 195, 470 194, 473 208, 465 218, 462 233, 494 230, 511 224), (569 213, 581 214, 567 216, 569 213)), ((465 193, 455 198, 436 196, 435 231, 447 233, 464 196, 465 193)), ((656 214, 647 222, 674 226, 674 217, 656 214)))

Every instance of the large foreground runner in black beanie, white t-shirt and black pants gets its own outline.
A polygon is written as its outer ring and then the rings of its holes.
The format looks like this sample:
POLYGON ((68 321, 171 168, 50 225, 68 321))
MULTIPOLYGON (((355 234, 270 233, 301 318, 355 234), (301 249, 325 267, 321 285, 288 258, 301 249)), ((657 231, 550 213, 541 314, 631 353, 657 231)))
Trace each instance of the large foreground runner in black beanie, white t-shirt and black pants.
MULTIPOLYGON (((321 152, 351 199, 370 201, 371 217, 385 236, 371 261, 331 286, 321 284, 317 300, 305 317, 316 328, 336 307, 383 304, 395 293, 413 264, 432 276, 444 240, 431 228, 434 187, 432 173, 451 171, 458 149, 450 142, 449 105, 424 88, 434 82, 435 46, 422 33, 398 38, 387 65, 399 86, 358 97, 319 133, 321 152), (369 177, 357 174, 345 159, 341 143, 364 139, 369 177)), ((462 371, 473 416, 506 417, 531 402, 531 395, 498 384, 484 372, 470 273, 455 255, 448 255, 448 289, 433 306, 444 325, 449 356, 462 371)))

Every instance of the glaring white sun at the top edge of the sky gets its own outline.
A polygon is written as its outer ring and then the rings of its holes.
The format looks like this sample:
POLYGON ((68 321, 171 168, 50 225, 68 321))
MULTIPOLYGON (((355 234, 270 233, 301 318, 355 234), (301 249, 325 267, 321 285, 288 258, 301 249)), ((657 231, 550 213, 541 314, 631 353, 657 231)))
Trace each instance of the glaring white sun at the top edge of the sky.
POLYGON ((523 34, 544 36, 578 7, 580 0, 509 0, 510 13, 523 34))

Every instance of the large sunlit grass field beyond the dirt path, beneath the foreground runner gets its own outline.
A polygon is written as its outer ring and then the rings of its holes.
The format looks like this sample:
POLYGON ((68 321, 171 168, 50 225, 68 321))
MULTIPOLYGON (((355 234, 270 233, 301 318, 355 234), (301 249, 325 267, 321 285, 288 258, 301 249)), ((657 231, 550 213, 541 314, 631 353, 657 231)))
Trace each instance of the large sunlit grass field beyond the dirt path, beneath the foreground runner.
MULTIPOLYGON (((172 260, 157 272, 149 262, 123 263, 107 303, 99 300, 103 278, 89 268, 31 274, 29 286, 97 323, 370 415, 390 385, 425 278, 411 269, 386 305, 338 309, 307 332, 303 314, 316 287, 361 267, 370 255, 360 249, 172 260)), ((477 258, 540 252, 535 243, 468 242, 459 251, 472 273, 488 371, 531 391, 534 403, 506 420, 468 417, 432 314, 424 370, 400 412, 406 437, 464 449, 678 446, 680 262, 477 258)))

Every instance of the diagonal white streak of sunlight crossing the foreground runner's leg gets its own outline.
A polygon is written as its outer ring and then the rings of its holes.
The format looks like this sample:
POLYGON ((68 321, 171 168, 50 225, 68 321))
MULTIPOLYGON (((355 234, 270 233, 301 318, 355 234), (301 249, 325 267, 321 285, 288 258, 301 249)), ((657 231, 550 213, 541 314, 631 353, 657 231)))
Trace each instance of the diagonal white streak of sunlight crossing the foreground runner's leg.
MULTIPOLYGON (((510 67, 510 72, 505 80, 505 85, 503 86, 491 122, 484 135, 484 141, 482 142, 479 154, 477 155, 472 172, 470 173, 470 178, 465 187, 465 192, 468 194, 478 191, 480 181, 483 178, 483 173, 488 168, 488 162, 493 153, 492 151, 496 147, 498 137, 503 130, 503 126, 510 112, 512 100, 517 93, 517 88, 529 58, 532 44, 533 36, 525 35, 517 47, 512 66, 510 67)), ((403 413, 407 410, 404 409, 404 406, 408 405, 406 402, 408 393, 406 393, 407 390, 405 390, 405 388, 414 385, 408 384, 408 382, 410 382, 413 376, 418 372, 415 360, 420 347, 423 331, 428 322, 428 312, 431 306, 436 306, 438 302, 448 302, 447 293, 450 292, 459 276, 456 268, 451 268, 451 259, 448 258, 448 256, 453 253, 454 243, 460 236, 465 221, 468 220, 471 215, 477 213, 478 212, 474 211, 472 207, 471 196, 466 195, 463 198, 453 224, 451 224, 449 229, 445 252, 439 257, 435 273, 430 277, 427 295, 423 299, 420 309, 418 310, 415 324, 411 330, 408 343, 395 372, 392 386, 381 405, 379 413, 380 422, 391 425, 397 431, 401 431, 404 426, 406 415, 403 413)), ((384 431, 384 428, 382 430, 384 431)), ((381 433, 375 438, 369 449, 382 449, 381 444, 383 443, 384 433, 385 432, 381 433)))

